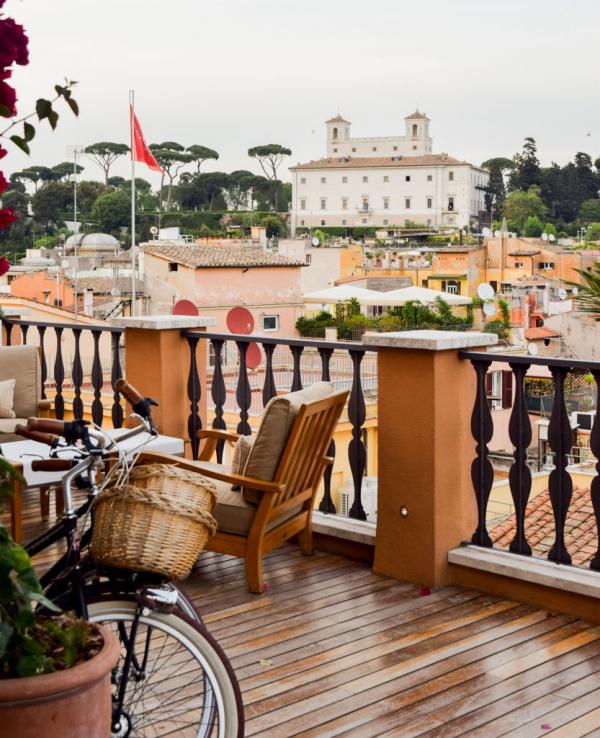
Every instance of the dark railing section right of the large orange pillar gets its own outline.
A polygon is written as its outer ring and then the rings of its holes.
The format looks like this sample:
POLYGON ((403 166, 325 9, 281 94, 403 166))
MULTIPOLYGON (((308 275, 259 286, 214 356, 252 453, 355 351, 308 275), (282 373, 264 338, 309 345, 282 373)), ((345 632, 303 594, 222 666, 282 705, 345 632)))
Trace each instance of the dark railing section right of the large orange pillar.
MULTIPOLYGON (((529 502, 532 477, 527 464, 528 448, 532 441, 531 421, 525 396, 525 376, 531 365, 542 365, 550 369, 554 384, 554 401, 548 425, 548 442, 552 451, 552 466, 548 478, 548 490, 554 515, 554 540, 548 559, 559 564, 571 564, 572 557, 565 544, 565 525, 569 505, 573 496, 573 480, 567 471, 572 462, 573 431, 565 401, 565 381, 571 372, 591 373, 600 383, 600 363, 571 359, 534 358, 503 354, 461 352, 463 359, 473 364, 477 375, 477 394, 471 416, 471 432, 476 442, 476 457, 471 467, 471 478, 477 502, 478 525, 471 542, 477 546, 492 548, 488 522, 488 503, 494 470, 489 460, 488 444, 494 432, 493 413, 486 397, 486 374, 492 362, 508 364, 514 376, 515 392, 509 421, 509 436, 514 446, 513 464, 509 471, 510 493, 513 500, 516 530, 509 551, 521 556, 531 556, 532 547, 526 535, 526 511, 529 502)), ((600 458, 600 421, 598 415, 590 433, 590 453, 600 458)), ((591 502, 600 529, 600 463, 596 462, 596 476, 591 483, 591 502)), ((592 558, 590 568, 600 571, 600 551, 592 558)))

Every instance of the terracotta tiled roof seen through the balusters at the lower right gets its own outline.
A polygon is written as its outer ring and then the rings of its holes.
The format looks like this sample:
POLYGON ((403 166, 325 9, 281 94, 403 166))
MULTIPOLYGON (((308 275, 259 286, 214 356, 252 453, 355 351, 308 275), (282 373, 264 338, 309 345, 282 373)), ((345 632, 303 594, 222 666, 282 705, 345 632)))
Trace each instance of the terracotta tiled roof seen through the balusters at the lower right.
MULTIPOLYGON (((527 505, 525 535, 536 556, 546 557, 554 543, 554 514, 548 490, 536 495, 527 505)), ((515 536, 516 518, 507 520, 490 530, 495 545, 508 548, 515 536)), ((565 524, 565 544, 573 563, 589 566, 598 548, 598 534, 589 487, 575 487, 565 524)))

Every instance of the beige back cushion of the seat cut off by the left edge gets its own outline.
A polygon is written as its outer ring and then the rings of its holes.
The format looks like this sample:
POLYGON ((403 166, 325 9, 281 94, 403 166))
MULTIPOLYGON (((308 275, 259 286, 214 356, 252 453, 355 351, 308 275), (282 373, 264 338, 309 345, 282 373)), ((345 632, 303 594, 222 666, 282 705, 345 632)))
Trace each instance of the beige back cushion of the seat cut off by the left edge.
POLYGON ((5 379, 16 380, 13 409, 17 418, 37 415, 41 370, 36 346, 0 347, 0 381, 5 379))

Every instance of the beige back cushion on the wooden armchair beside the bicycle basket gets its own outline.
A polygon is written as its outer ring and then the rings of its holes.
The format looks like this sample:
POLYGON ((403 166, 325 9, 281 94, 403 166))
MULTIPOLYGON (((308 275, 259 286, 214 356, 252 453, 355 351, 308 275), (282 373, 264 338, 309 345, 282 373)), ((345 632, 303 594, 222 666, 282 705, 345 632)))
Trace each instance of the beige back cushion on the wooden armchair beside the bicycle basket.
MULTIPOLYGON (((302 405, 323 400, 333 393, 331 382, 317 382, 298 392, 274 397, 265 407, 256 439, 248 456, 244 474, 247 477, 273 481, 287 444, 294 420, 302 405)), ((257 505, 261 494, 244 489, 244 499, 257 505)))

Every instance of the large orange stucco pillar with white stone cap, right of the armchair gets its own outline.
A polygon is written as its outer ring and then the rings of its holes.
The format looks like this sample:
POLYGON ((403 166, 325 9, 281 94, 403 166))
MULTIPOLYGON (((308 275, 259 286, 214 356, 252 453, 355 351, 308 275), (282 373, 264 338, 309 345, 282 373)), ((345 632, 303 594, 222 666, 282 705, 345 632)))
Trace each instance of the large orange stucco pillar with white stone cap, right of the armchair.
POLYGON ((450 581, 448 551, 477 515, 470 419, 475 372, 461 349, 496 336, 450 331, 366 335, 380 346, 375 571, 431 586, 450 581))

